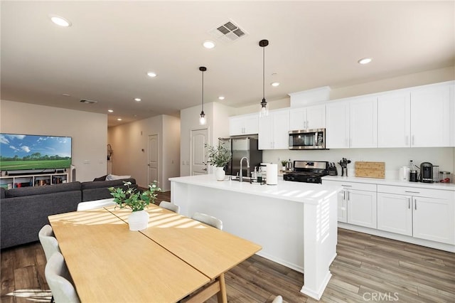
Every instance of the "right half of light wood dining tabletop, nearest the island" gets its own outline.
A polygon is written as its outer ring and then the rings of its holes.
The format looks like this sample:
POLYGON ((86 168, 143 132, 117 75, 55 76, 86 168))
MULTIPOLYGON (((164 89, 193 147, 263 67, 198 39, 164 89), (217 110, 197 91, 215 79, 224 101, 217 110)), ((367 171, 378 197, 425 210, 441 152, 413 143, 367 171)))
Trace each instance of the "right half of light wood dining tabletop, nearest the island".
MULTIPOLYGON (((127 220, 127 210, 106 208, 127 220)), ((165 208, 150 205, 149 226, 140 232, 214 279, 261 250, 261 246, 165 208)))

